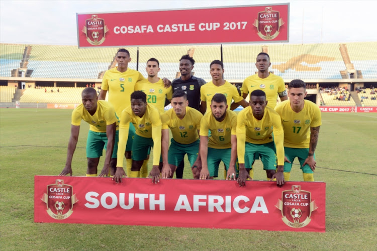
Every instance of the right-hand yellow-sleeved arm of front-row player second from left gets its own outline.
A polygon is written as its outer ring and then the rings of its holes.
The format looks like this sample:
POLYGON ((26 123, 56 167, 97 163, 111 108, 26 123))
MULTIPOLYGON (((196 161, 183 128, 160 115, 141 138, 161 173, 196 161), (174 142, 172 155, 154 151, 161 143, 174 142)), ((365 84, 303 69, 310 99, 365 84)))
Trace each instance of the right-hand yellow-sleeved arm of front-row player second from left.
POLYGON ((152 178, 152 183, 160 182, 160 169, 158 168, 160 164, 161 157, 161 119, 158 114, 159 124, 156 126, 152 125, 152 139, 153 139, 153 166, 149 173, 149 177, 152 178))

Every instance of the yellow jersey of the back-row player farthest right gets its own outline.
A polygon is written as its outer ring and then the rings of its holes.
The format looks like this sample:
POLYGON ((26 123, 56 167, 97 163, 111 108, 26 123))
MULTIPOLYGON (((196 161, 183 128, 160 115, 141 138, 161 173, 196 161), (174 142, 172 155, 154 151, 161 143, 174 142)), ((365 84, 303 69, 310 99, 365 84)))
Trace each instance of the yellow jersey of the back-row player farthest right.
POLYGON ((272 73, 266 78, 258 77, 257 73, 247 77, 241 87, 242 93, 251 93, 254 90, 264 91, 268 101, 267 106, 273 109, 276 106, 278 93, 286 91, 286 85, 281 77, 272 73))

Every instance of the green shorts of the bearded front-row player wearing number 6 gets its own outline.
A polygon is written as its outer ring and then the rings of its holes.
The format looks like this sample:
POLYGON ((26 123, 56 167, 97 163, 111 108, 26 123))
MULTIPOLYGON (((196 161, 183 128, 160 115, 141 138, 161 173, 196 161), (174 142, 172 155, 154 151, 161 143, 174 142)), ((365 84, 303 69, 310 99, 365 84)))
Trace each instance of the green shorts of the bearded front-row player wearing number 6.
MULTIPOLYGON (((219 165, 222 161, 226 170, 229 169, 230 164, 230 155, 232 149, 215 149, 215 148, 208 148, 208 155, 207 155, 207 165, 208 171, 210 172, 210 177, 218 177, 219 173, 219 165)), ((236 160, 236 177, 238 177, 239 167, 238 167, 238 159, 236 160)))

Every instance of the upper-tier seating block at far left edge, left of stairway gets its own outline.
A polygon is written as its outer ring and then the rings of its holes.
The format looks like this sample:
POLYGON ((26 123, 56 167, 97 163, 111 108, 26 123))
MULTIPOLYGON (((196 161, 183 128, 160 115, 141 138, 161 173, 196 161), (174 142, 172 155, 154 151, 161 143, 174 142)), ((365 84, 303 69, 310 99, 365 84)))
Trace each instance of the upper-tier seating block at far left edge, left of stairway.
POLYGON ((0 76, 11 77, 20 68, 25 45, 0 44, 0 76))

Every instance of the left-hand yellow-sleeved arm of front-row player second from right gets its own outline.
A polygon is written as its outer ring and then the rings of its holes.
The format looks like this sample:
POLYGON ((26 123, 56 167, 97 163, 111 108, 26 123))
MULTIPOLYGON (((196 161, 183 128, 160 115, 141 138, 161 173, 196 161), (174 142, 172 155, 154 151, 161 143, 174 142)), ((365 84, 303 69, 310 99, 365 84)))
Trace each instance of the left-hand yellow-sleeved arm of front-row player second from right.
POLYGON ((246 143, 246 128, 245 128, 245 120, 243 114, 238 114, 237 116, 237 156, 238 156, 238 164, 239 164, 239 174, 237 182, 240 186, 245 186, 246 179, 250 179, 250 175, 248 174, 245 168, 245 143, 246 143))

